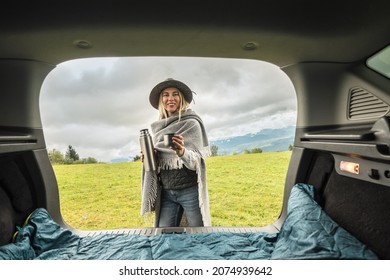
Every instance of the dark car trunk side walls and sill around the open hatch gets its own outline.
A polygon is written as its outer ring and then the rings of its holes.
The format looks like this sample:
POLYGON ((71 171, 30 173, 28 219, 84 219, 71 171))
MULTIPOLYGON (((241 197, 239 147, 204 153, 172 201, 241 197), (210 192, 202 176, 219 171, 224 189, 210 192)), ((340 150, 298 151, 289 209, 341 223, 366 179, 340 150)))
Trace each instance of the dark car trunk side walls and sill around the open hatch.
MULTIPOLYGON (((8 110, 7 113, 15 116, 14 123, 0 124, 1 245, 12 241, 15 227, 21 227, 37 207, 48 209, 60 225, 72 229, 62 220, 58 186, 45 149, 37 101, 39 81, 25 85, 28 88, 26 91, 20 90, 20 84, 15 82, 23 73, 27 75, 31 72, 32 76, 40 77, 43 81, 51 67, 29 61, 6 61, 2 65, 10 69, 9 75, 1 78, 3 100, 13 102, 15 94, 20 94, 20 98, 29 96, 28 99, 33 99, 35 106, 28 107, 21 102, 15 106, 19 110, 13 108, 11 111, 5 105, 7 102, 0 105, 4 111, 8 110), (12 69, 15 70, 14 74, 12 69)), ((359 79, 360 68, 359 64, 313 63, 284 69, 296 87, 299 111, 294 149, 286 174, 283 210, 274 224, 259 228, 154 228, 125 231, 146 235, 205 231, 277 232, 286 218, 287 200, 292 186, 295 183, 308 183, 315 187, 317 202, 331 218, 367 244, 378 256, 389 259, 388 109, 380 112, 382 116, 368 115, 357 120, 348 117, 348 112, 352 89, 366 89, 370 95, 382 100, 385 106, 390 103, 386 95, 390 89, 386 88, 388 83, 384 78, 375 75, 371 81, 362 82, 359 79), (320 76, 324 78, 316 76, 316 79, 311 80, 308 74, 309 78, 303 79, 308 72, 321 72, 320 76), (316 95, 318 97, 311 97, 313 91, 320 92, 316 95), (335 106, 343 109, 336 110, 335 106), (359 172, 342 170, 341 162, 355 164, 359 172)), ((109 232, 72 230, 81 235, 109 232)))

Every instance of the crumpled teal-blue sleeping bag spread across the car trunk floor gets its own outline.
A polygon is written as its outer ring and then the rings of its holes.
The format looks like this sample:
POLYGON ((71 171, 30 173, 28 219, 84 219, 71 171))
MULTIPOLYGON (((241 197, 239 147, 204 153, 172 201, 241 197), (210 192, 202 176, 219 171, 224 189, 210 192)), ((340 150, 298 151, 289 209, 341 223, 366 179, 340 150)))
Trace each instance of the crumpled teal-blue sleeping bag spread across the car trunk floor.
POLYGON ((0 247, 0 259, 47 260, 256 260, 377 259, 315 202, 311 185, 297 184, 279 233, 213 232, 156 236, 101 234, 80 237, 36 209, 0 247))

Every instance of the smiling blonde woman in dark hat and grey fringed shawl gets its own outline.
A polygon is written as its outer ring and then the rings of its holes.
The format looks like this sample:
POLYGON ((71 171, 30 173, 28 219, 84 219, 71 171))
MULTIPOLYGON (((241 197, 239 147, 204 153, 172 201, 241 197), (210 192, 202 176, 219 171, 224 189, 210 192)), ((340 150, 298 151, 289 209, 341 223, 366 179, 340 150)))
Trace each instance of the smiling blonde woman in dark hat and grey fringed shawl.
POLYGON ((141 214, 155 212, 155 226, 211 226, 205 158, 210 154, 201 118, 189 108, 192 91, 167 79, 149 96, 159 110, 151 124, 158 169, 143 172, 141 214), (174 133, 172 145, 164 135, 174 133), (157 178, 154 177, 157 175, 157 178))

